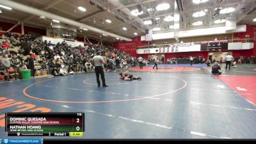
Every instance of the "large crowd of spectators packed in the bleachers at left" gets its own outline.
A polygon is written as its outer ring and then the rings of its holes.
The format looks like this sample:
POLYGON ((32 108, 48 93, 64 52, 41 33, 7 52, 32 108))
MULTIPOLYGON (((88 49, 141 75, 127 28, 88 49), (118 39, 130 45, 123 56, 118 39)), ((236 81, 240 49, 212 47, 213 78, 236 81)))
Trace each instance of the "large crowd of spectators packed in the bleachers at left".
POLYGON ((5 49, 1 46, 2 55, 4 56, 1 60, 1 72, 4 73, 6 67, 12 67, 15 74, 18 75, 15 78, 20 78, 22 68, 31 69, 32 76, 35 75, 36 70, 46 70, 47 74, 52 74, 52 76, 63 76, 74 74, 74 72, 90 72, 93 70, 92 58, 97 51, 100 51, 104 60, 107 61, 104 65, 107 71, 131 67, 138 63, 136 58, 113 47, 92 44, 71 47, 65 41, 55 45, 51 41, 47 42, 45 40, 43 42, 32 36, 9 35, 9 33, 1 38, 3 39, 2 42, 10 44, 10 46, 20 47, 17 53, 10 53, 8 48, 5 49), (9 62, 6 65, 3 61, 9 62), (39 67, 35 67, 36 63, 39 67))

